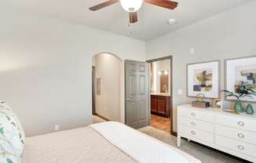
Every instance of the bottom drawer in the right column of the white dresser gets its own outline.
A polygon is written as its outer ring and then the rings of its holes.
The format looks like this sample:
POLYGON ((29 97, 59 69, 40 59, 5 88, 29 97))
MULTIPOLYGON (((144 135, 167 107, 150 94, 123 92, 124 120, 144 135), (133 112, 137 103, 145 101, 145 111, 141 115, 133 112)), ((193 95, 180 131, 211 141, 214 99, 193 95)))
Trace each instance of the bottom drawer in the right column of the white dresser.
POLYGON ((256 146, 255 145, 252 145, 249 143, 243 143, 243 142, 237 141, 235 139, 229 139, 224 136, 215 136, 215 143, 221 147, 235 150, 240 153, 247 154, 249 156, 256 158, 256 146))

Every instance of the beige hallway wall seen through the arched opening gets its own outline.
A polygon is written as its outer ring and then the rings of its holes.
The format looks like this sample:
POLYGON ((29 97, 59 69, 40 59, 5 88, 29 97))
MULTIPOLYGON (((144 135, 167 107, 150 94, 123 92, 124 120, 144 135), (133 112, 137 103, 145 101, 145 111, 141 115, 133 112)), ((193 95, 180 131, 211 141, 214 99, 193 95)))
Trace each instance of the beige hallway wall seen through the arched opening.
POLYGON ((120 121, 122 60, 108 53, 98 54, 94 60, 96 78, 101 78, 101 95, 95 93, 96 113, 111 121, 120 121))

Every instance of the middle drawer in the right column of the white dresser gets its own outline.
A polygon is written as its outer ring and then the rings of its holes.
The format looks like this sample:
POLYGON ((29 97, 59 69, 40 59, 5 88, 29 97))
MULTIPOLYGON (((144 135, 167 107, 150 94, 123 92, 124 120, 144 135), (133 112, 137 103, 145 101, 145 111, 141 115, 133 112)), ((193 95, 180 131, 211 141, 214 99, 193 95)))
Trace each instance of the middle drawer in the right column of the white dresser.
POLYGON ((215 132, 218 135, 226 136, 232 139, 237 139, 246 143, 256 145, 256 132, 247 132, 241 129, 234 129, 224 125, 215 125, 215 132))

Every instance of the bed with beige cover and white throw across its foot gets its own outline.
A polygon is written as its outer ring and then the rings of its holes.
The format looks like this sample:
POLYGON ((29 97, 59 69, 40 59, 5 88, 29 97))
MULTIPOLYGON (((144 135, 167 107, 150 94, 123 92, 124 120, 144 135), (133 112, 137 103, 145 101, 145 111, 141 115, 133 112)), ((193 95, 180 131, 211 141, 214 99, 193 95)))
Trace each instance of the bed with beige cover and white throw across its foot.
POLYGON ((119 122, 26 139, 22 163, 200 163, 191 155, 119 122))

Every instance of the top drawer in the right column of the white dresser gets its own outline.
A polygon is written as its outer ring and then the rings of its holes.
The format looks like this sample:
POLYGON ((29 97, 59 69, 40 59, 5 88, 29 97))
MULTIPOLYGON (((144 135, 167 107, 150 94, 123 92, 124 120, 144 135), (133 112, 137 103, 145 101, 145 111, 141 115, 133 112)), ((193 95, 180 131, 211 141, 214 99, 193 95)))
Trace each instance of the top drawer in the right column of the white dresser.
POLYGON ((237 129, 244 129, 251 132, 256 132, 256 121, 252 119, 225 116, 221 114, 215 115, 215 123, 219 125, 230 126, 237 129))

